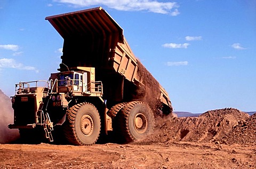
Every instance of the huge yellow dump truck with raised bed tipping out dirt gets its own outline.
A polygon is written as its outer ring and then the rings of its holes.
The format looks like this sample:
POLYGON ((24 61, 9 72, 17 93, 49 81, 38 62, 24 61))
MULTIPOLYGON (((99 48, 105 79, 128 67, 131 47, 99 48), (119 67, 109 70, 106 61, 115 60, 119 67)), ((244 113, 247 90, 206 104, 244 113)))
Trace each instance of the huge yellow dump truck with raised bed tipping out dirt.
POLYGON ((102 7, 45 20, 63 38, 62 62, 48 81, 15 85, 9 128, 18 128, 21 138, 42 133, 53 141, 54 128, 61 126, 74 145, 94 144, 108 133, 131 142, 152 132, 157 116, 172 114, 167 92, 102 7))

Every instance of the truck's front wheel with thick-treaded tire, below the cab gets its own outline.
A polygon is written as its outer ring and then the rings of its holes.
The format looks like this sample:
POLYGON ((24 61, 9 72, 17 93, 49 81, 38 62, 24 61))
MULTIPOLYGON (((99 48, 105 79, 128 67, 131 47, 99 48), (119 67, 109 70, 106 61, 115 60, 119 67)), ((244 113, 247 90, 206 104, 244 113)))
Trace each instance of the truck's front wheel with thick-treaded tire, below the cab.
POLYGON ((63 130, 69 143, 78 146, 92 145, 100 135, 100 116, 91 103, 79 103, 67 110, 63 130))

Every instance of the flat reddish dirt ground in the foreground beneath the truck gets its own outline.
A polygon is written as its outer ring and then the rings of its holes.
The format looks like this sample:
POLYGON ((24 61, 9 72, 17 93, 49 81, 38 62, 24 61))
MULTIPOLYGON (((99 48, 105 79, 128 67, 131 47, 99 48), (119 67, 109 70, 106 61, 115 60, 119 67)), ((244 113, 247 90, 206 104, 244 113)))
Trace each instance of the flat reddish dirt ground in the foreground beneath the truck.
POLYGON ((0 144, 0 168, 255 168, 255 145, 0 144))

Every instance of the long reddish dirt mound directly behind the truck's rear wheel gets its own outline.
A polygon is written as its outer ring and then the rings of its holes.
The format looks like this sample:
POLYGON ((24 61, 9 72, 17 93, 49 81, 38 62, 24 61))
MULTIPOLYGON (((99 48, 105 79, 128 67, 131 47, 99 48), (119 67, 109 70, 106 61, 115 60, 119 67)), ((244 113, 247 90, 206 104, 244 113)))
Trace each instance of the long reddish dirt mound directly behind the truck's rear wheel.
MULTIPOLYGON (((235 129, 240 123, 240 125, 242 123, 243 125, 254 124, 255 127, 255 116, 249 117, 248 114, 237 109, 225 108, 207 111, 199 117, 169 118, 164 119, 164 121, 157 120, 154 134, 138 143, 169 144, 173 141, 228 143, 226 141, 228 140, 227 135, 233 132, 236 133, 235 129)), ((241 130, 241 127, 238 128, 238 130, 241 130)), ((253 134, 255 135, 255 132, 253 134)))

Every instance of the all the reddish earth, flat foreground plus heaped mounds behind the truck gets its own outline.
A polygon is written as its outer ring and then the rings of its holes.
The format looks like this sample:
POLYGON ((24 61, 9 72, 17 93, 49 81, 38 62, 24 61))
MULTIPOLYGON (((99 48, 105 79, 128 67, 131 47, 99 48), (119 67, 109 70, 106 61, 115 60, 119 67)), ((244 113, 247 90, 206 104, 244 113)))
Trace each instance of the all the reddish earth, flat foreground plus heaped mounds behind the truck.
POLYGON ((11 110, 6 105, 0 106, 0 168, 256 168, 256 115, 234 108, 157 118, 154 133, 130 144, 70 146, 10 143, 17 132, 6 127, 12 123, 1 113, 11 110))

